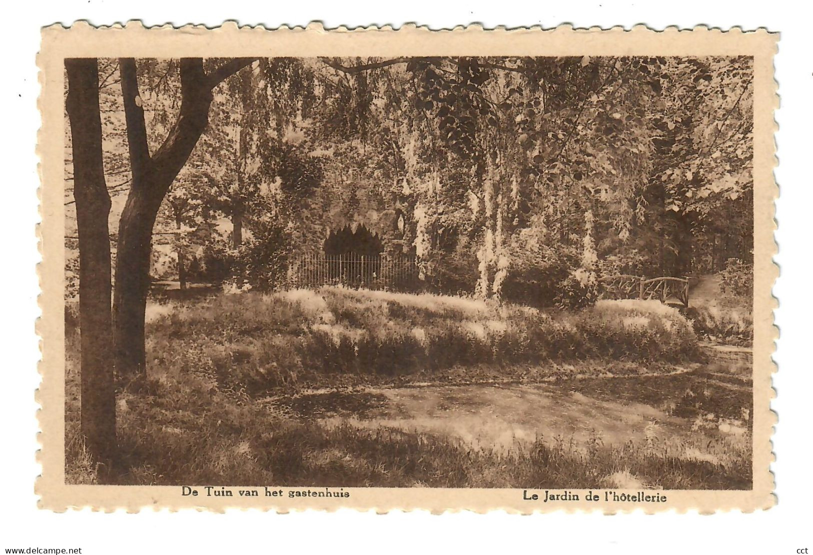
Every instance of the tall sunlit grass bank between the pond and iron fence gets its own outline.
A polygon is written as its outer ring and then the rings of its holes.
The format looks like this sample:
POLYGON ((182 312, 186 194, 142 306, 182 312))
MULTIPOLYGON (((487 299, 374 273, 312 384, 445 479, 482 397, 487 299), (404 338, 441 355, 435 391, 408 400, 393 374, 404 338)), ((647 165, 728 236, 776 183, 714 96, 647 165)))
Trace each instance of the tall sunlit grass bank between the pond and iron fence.
POLYGON ((442 374, 455 366, 543 361, 684 361, 693 330, 654 301, 541 312, 441 295, 325 287, 222 295, 160 309, 148 366, 207 374, 247 393, 341 383, 358 375, 442 374))

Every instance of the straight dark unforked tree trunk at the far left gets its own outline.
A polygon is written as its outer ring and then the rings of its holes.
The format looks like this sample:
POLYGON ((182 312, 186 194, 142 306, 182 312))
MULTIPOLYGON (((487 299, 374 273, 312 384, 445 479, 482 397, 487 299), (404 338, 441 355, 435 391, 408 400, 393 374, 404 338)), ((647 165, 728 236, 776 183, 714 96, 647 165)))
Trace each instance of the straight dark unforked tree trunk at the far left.
POLYGON ((111 333, 110 194, 102 162, 98 62, 66 59, 66 109, 71 123, 76 228, 79 235, 81 345, 80 429, 107 482, 115 456, 115 389, 111 333))

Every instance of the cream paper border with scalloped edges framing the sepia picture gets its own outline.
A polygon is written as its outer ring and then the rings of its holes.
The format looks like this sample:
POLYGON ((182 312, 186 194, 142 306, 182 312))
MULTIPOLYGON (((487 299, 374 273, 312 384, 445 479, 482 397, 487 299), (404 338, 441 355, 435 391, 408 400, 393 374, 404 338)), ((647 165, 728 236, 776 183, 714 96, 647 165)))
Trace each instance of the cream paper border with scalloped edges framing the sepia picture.
MULTIPOLYGON (((41 165, 41 217, 38 234, 42 262, 39 266, 41 319, 41 387, 36 398, 41 404, 39 422, 41 451, 38 461, 42 474, 35 492, 39 506, 63 511, 91 507, 112 511, 196 508, 222 511, 228 508, 271 509, 280 512, 299 509, 340 508, 427 509, 435 513, 468 509, 487 512, 505 509, 511 513, 554 510, 605 513, 643 509, 647 513, 676 509, 701 513, 739 509, 753 511, 774 505, 772 426, 776 415, 770 409, 774 396, 771 386, 774 341, 773 283, 779 273, 773 264, 776 243, 773 232, 774 199, 778 189, 773 177, 776 164, 773 111, 778 107, 772 58, 776 33, 761 29, 743 33, 703 27, 679 31, 667 28, 655 32, 644 26, 578 29, 562 26, 553 30, 519 28, 485 30, 479 26, 430 31, 406 25, 393 28, 337 28, 325 30, 320 24, 307 28, 242 27, 229 22, 220 28, 202 26, 144 28, 139 22, 125 27, 93 28, 84 22, 71 28, 53 25, 42 31, 41 52, 37 58, 42 86, 39 107, 42 127, 38 154, 41 165), (67 57, 237 57, 237 56, 437 56, 437 55, 750 55, 754 56, 754 481, 750 491, 660 491, 666 503, 609 502, 585 500, 587 490, 571 490, 580 501, 550 502, 523 500, 521 489, 446 489, 350 487, 349 498, 289 497, 207 497, 181 496, 180 486, 101 486, 64 483, 64 207, 63 207, 63 59, 67 57)), ((193 486, 194 484, 189 484, 193 486)), ((217 485, 217 484, 209 484, 217 485)), ((263 487, 273 484, 258 484, 263 487)), ((198 487, 198 489, 200 489, 198 487)), ((237 488, 234 488, 237 489, 237 488)), ((278 489, 278 488, 277 488, 278 489)), ((284 490, 314 489, 284 487, 284 490)), ((332 491, 338 488, 331 488, 332 491)), ((562 490, 556 490, 561 492, 562 490)), ((602 490, 603 492, 604 490, 602 490)), ((529 491, 531 492, 531 491, 529 491)), ((541 493, 539 490, 533 492, 541 493)), ((618 490, 623 492, 623 490, 618 490)), ((634 493, 634 492, 628 492, 634 493)), ((654 492, 652 492, 654 493, 654 492)), ((287 495, 287 493, 286 493, 287 495)))

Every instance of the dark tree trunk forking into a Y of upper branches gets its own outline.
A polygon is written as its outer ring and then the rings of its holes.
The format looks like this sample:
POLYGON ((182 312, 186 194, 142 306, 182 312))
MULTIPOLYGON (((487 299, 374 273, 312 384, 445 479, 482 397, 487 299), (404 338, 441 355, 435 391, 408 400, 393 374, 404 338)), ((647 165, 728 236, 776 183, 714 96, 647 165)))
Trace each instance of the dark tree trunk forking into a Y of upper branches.
POLYGON ((121 91, 133 181, 119 225, 113 300, 115 368, 122 378, 146 376, 144 311, 150 288, 152 229, 163 197, 184 167, 209 119, 212 88, 252 59, 233 59, 211 74, 203 60, 180 60, 180 114, 150 155, 134 59, 120 59, 121 91))

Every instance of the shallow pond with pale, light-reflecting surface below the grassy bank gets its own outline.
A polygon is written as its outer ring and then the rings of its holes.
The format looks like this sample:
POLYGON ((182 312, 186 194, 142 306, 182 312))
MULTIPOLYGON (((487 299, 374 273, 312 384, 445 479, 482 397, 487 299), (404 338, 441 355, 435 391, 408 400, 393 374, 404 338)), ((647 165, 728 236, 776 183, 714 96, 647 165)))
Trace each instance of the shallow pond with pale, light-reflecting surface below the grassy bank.
POLYGON ((298 395, 286 409, 328 426, 386 426, 450 435, 474 447, 499 450, 527 446, 540 437, 576 446, 653 438, 681 444, 698 439, 693 428, 698 415, 713 418, 703 424, 711 433, 708 439, 745 432, 747 423, 737 418, 748 406, 750 382, 719 370, 710 365, 707 370, 634 378, 320 391, 298 395))

